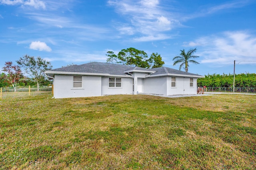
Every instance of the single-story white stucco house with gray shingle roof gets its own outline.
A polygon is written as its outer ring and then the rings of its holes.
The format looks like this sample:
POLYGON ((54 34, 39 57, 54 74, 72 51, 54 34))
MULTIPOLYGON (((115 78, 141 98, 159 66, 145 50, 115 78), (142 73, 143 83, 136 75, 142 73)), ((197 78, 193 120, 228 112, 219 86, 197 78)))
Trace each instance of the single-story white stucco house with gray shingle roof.
POLYGON ((204 77, 168 67, 146 69, 99 62, 56 68, 45 73, 53 79, 54 98, 196 94, 197 78, 204 77))

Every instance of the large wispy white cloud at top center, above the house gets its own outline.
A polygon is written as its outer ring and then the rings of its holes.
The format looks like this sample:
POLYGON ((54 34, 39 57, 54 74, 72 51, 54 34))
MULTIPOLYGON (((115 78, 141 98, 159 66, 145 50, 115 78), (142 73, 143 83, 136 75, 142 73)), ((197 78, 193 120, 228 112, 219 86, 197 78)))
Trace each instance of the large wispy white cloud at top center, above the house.
POLYGON ((170 36, 164 35, 164 32, 180 25, 178 20, 170 18, 170 12, 163 10, 159 0, 109 0, 108 4, 114 6, 116 12, 127 19, 126 23, 121 23, 125 26, 117 27, 120 34, 140 35, 139 38, 133 38, 135 41, 167 39, 170 36))

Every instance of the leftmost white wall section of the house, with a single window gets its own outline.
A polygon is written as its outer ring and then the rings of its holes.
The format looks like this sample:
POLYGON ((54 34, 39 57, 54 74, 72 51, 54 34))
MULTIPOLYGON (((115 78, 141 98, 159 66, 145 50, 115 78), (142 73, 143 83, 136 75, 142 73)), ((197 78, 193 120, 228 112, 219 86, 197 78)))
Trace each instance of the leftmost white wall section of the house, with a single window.
POLYGON ((73 88, 73 76, 55 75, 55 98, 101 96, 101 76, 82 76, 82 88, 73 88))

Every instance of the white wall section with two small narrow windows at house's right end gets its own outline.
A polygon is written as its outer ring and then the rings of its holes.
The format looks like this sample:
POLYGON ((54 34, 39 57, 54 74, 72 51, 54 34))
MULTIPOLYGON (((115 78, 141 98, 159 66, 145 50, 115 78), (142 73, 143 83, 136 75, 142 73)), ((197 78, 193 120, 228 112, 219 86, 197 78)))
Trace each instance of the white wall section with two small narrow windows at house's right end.
POLYGON ((171 86, 171 76, 167 77, 167 95, 196 94, 197 79, 193 78, 193 87, 190 87, 190 77, 176 77, 176 87, 171 86))

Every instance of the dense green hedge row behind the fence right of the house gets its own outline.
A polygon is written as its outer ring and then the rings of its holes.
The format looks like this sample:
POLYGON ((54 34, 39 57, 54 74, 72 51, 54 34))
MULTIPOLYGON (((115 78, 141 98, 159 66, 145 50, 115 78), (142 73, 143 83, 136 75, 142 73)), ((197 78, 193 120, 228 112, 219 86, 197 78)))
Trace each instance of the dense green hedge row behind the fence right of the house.
MULTIPOLYGON (((197 86, 202 87, 233 87, 233 74, 208 74, 205 78, 198 78, 197 86)), ((256 74, 235 74, 235 87, 256 88, 256 74)))

